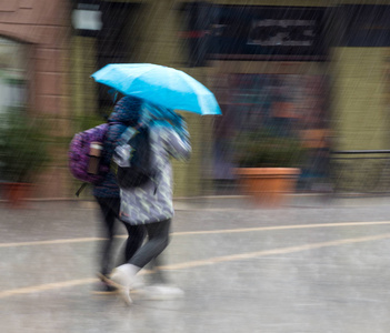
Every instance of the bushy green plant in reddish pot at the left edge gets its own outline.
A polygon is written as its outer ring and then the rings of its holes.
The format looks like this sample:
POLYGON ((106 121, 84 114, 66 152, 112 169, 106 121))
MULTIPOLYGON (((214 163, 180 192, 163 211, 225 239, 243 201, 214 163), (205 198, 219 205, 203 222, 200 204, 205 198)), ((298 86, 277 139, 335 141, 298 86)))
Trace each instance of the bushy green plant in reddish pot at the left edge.
POLYGON ((23 111, 12 108, 0 118, 0 179, 11 205, 29 195, 34 176, 49 161, 43 121, 23 111))

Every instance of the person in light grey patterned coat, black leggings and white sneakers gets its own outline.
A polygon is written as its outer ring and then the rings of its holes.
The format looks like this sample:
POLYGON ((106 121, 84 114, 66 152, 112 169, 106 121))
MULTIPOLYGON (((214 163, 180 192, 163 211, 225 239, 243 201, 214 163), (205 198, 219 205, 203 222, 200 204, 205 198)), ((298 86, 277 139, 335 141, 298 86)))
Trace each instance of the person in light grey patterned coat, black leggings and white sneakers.
POLYGON ((169 121, 153 118, 147 108, 142 112, 139 125, 149 128, 150 163, 154 176, 139 188, 121 188, 120 219, 130 231, 132 226, 144 226, 148 240, 127 263, 116 268, 110 276, 112 285, 119 287, 127 304, 132 303, 130 289, 137 280, 137 273, 159 256, 169 243, 174 213, 170 158, 188 160, 191 153, 187 124, 181 117, 177 115, 169 121))

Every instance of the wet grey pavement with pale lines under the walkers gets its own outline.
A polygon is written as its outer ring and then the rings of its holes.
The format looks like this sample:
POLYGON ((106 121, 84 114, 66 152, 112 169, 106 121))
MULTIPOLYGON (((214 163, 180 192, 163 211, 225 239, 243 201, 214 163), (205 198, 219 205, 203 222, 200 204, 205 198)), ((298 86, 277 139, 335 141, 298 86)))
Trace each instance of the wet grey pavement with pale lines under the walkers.
MULTIPOLYGON (((176 208, 163 268, 186 295, 134 293, 127 307, 91 293, 101 244, 93 203, 0 203, 0 332, 389 332, 389 198, 176 208)), ((122 226, 117 240, 121 249, 122 226)))

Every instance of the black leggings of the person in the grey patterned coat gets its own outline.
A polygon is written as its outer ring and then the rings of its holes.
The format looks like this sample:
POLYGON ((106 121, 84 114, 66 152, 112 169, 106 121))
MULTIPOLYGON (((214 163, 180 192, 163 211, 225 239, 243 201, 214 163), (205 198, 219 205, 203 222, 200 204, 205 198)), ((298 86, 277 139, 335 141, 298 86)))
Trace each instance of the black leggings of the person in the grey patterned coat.
POLYGON ((148 234, 148 241, 130 256, 128 260, 129 264, 142 269, 168 246, 169 229, 171 225, 170 219, 144 225, 130 225, 128 223, 124 223, 124 225, 128 229, 129 235, 133 234, 137 228, 142 228, 148 234))

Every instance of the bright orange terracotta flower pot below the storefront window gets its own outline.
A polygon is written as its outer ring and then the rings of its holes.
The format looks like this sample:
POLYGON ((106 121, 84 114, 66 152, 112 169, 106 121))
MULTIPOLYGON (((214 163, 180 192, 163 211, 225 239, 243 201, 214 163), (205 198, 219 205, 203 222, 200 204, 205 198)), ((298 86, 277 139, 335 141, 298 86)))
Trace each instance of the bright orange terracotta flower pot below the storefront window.
POLYGON ((239 168, 236 169, 242 191, 256 204, 278 206, 287 193, 296 189, 300 169, 296 168, 239 168))

